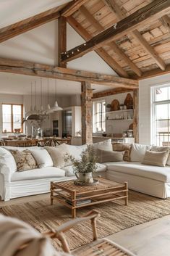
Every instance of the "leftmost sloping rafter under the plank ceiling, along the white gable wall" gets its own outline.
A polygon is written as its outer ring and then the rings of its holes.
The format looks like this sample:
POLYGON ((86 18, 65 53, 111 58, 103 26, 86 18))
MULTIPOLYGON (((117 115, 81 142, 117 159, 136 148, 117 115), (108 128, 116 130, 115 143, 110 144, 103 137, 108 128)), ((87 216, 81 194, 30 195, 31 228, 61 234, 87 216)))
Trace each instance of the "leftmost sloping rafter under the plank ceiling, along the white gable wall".
MULTIPOLYGON (((67 22, 69 22, 69 25, 72 26, 72 28, 75 29, 75 31, 77 31, 77 33, 80 34, 80 36, 82 36, 82 38, 85 41, 88 41, 90 38, 92 38, 92 36, 90 36, 90 34, 88 33, 87 30, 85 30, 85 28, 82 27, 82 25, 80 25, 77 20, 75 20, 73 17, 67 17, 67 22)), ((98 48, 95 50, 95 52, 120 76, 124 77, 124 78, 128 78, 129 75, 127 74, 127 72, 118 64, 114 61, 113 58, 111 58, 111 56, 103 49, 103 48, 98 48)))

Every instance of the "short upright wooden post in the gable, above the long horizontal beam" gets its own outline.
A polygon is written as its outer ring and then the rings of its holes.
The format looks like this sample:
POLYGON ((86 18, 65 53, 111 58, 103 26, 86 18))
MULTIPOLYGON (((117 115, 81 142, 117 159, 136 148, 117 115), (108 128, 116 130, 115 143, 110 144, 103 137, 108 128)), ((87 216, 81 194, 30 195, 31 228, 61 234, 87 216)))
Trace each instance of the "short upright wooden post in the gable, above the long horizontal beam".
POLYGON ((67 19, 59 17, 59 67, 67 67, 67 63, 61 62, 61 53, 67 51, 67 19))

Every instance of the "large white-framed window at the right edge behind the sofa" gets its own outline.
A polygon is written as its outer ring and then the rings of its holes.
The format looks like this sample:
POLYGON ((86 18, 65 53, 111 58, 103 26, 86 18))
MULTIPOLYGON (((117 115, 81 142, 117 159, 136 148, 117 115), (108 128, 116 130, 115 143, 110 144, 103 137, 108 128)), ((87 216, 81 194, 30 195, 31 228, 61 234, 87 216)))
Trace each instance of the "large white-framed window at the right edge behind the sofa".
POLYGON ((153 144, 170 146, 170 85, 153 88, 153 144))

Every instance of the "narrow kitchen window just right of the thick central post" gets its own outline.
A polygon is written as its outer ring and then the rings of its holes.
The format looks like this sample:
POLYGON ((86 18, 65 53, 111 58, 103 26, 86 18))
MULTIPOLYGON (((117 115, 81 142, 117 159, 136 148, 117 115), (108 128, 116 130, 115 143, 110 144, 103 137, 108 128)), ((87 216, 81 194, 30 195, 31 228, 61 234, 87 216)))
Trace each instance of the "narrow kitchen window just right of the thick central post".
POLYGON ((106 102, 93 102, 93 133, 106 131, 106 102))

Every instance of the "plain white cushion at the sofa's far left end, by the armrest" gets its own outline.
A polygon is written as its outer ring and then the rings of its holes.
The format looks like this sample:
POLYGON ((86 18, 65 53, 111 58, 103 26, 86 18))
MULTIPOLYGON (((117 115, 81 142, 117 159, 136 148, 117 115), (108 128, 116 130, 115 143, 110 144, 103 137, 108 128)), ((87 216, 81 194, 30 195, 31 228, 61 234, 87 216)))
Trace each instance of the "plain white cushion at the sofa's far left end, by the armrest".
POLYGON ((11 152, 9 152, 7 149, 3 149, 2 147, 0 147, 0 162, 7 165, 11 173, 16 172, 17 165, 14 157, 12 156, 11 152))

